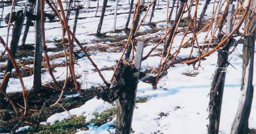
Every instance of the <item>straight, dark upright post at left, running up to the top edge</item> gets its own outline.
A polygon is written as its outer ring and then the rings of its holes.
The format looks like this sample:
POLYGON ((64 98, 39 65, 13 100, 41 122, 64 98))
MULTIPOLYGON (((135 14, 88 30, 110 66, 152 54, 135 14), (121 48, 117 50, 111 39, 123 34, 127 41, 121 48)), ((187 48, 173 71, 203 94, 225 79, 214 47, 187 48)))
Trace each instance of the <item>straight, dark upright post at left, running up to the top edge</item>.
MULTIPOLYGON (((35 15, 41 15, 41 3, 40 0, 36 0, 35 15)), ((35 54, 34 54, 34 81, 33 87, 35 92, 41 90, 41 58, 42 58, 43 46, 41 41, 41 20, 35 20, 35 54)))

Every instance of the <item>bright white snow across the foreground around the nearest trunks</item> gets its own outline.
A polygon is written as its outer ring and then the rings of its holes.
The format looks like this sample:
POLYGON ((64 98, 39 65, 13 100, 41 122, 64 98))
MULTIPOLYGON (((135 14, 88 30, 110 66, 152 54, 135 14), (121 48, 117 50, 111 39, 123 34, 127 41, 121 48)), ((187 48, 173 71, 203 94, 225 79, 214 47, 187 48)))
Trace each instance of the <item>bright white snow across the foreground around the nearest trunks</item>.
MULTIPOLYGON (((242 45, 239 45, 238 49, 241 50, 242 45)), ((230 55, 230 62, 234 68, 232 66, 227 68, 220 133, 230 133, 238 107, 242 74, 242 59, 239 54, 241 52, 236 51, 230 55)), ((148 83, 139 82, 137 97, 147 97, 148 100, 146 103, 137 103, 137 109, 134 109, 132 129, 135 133, 207 133, 208 93, 210 93, 211 78, 216 68, 216 59, 217 55, 212 54, 202 62, 203 68, 196 71, 192 66, 176 65, 176 67, 168 70, 168 76, 161 79, 158 84, 159 88, 155 91, 148 83), (195 77, 186 76, 184 72, 196 72, 198 75, 195 77)), ((253 84, 256 85, 256 82, 253 82, 253 84)), ((102 105, 101 108, 110 107, 102 100, 92 99, 79 108, 81 113, 77 113, 77 111, 74 113, 75 109, 70 110, 70 113, 72 115, 83 113, 88 116, 90 113, 84 113, 84 111, 96 109, 95 107, 100 104, 102 105), (97 105, 95 106, 95 104, 97 105)), ((102 109, 98 109, 98 111, 100 112, 102 109)), ((249 119, 250 129, 256 129, 255 111, 256 100, 254 99, 249 119)), ((47 122, 52 123, 67 118, 67 116, 65 112, 55 114, 47 122), (64 115, 65 117, 63 117, 64 115)), ((111 125, 113 125, 113 121, 97 128, 89 127, 89 131, 79 131, 77 133, 109 133, 107 131, 109 129, 111 132, 114 131, 112 127, 109 127, 111 125)))

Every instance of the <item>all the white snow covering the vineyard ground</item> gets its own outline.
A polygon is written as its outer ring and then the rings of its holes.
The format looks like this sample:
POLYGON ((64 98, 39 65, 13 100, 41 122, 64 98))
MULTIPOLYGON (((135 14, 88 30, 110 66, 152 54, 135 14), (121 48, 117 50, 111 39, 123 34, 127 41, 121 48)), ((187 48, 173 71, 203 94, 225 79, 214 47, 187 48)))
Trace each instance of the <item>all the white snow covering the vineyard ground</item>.
MULTIPOLYGON (((22 2, 21 2, 22 3, 22 2)), ((83 2, 81 2, 83 3, 83 2)), ((201 13, 202 6, 204 1, 201 1, 201 5, 198 5, 198 13, 201 13)), ((100 1, 100 5, 102 1, 100 1)), ((122 7, 118 8, 118 13, 128 12, 128 1, 120 1, 120 4, 123 4, 122 7)), ((96 7, 97 2, 91 2, 91 7, 96 7)), ((113 1, 109 1, 108 5, 114 5, 113 1)), ((171 4, 170 4, 171 5, 171 4)), ((96 32, 96 27, 98 25, 99 18, 93 17, 95 15, 96 9, 86 8, 80 13, 80 17, 87 17, 86 19, 81 19, 78 21, 77 25, 77 38, 80 42, 87 42, 84 46, 90 47, 95 44, 92 41, 99 40, 99 38, 89 35, 96 32), (93 11, 93 12, 92 12, 93 11)), ((47 6, 46 6, 47 7, 47 6)), ((207 10, 207 17, 211 17, 213 4, 210 4, 210 8, 207 10)), ((21 7, 17 7, 20 9, 21 7)), ((113 6, 108 7, 106 14, 113 13, 113 6), (112 10, 110 10, 112 9, 112 10)), ((10 10, 10 7, 4 8, 4 14, 7 14, 10 10)), ((49 10, 49 8, 48 8, 49 10)), ((170 11, 170 10, 169 10, 170 11)), ((175 10, 174 10, 175 12, 175 10)), ((192 11, 193 12, 193 9, 192 11)), ((100 12, 98 12, 100 15, 100 12)), ((187 14, 185 14, 186 16, 187 14)), ((159 9, 156 10, 153 22, 159 22, 165 20, 166 18, 166 2, 160 1, 159 9)), ((174 16, 173 16, 174 18, 174 16)), ((70 16, 69 24, 74 23, 74 14, 70 16)), ((117 18, 117 28, 122 29, 126 23, 127 14, 119 14, 117 18)), ((144 24, 148 23, 148 19, 145 20, 144 24)), ((2 26, 5 24, 1 24, 2 26)), ((113 29, 113 15, 105 16, 105 21, 102 26, 102 32, 109 32, 113 29)), ((158 27, 165 27, 164 22, 156 24, 158 27)), ((61 38, 61 27, 59 23, 46 23, 46 40, 60 39, 61 38), (54 29, 52 29, 55 27, 54 29)), ((142 30, 147 31, 148 26, 142 27, 142 30)), ((31 27, 27 43, 34 42, 34 28, 31 27)), ((163 36, 163 32, 158 33, 160 37, 163 36)), ((0 36, 6 38, 7 29, 0 29, 0 36)), ((202 43, 204 39, 203 32, 198 38, 198 41, 202 43)), ((112 34, 107 34, 108 36, 124 35, 123 32, 112 34)), ((149 37, 156 36, 155 34, 150 34, 149 37)), ((190 35, 191 36, 191 35, 190 35)), ((11 36, 9 37, 11 39, 11 36)), ((139 38, 139 37, 138 37, 139 38)), ((188 37, 189 38, 189 35, 188 37)), ((174 39, 173 48, 179 47, 181 36, 177 35, 174 39)), ((103 45, 107 45, 107 42, 102 42, 103 45)), ((48 43, 48 47, 55 47, 54 44, 48 43)), ((145 47, 144 54, 147 54, 150 49, 155 44, 149 44, 145 47)), ((160 45, 159 48, 163 48, 163 45, 160 45)), ((3 51, 3 47, 0 46, 0 52, 3 51)), ((75 48, 79 49, 79 48, 75 48)), ((187 57, 190 52, 189 48, 182 48, 179 57, 187 57)), ((174 49, 173 49, 174 50, 174 49)), ((111 49, 109 48, 111 52, 111 49)), ((154 51, 152 54, 158 53, 154 51)), ((56 53, 49 52, 49 55, 56 53)), ((197 55, 197 51, 194 51, 192 55, 197 55)), ((227 75, 226 75, 226 85, 224 87, 224 96, 222 104, 222 113, 221 113, 221 123, 220 123, 220 133, 230 133, 231 125, 236 114, 238 107, 238 99, 240 96, 240 87, 241 87, 241 65, 242 59, 240 55, 242 54, 242 44, 239 44, 236 51, 229 55, 230 63, 234 66, 228 66, 227 75)), ((105 67, 111 67, 116 64, 116 60, 121 56, 121 52, 109 53, 109 52, 91 52, 91 58, 97 64, 98 68, 102 69, 105 67)), ((31 58, 31 57, 30 57, 31 58)), ((137 103, 137 109, 134 109, 132 129, 134 133, 148 134, 148 133, 198 133, 204 134, 207 133, 207 124, 208 124, 208 102, 211 88, 211 78, 216 69, 216 59, 217 53, 213 53, 210 57, 207 57, 206 60, 202 61, 201 68, 194 70, 192 66, 185 64, 176 64, 175 67, 171 67, 168 70, 168 75, 160 80, 158 83, 158 89, 152 90, 151 85, 148 83, 139 82, 137 97, 147 97, 148 100, 145 103, 137 103), (186 73, 197 74, 195 77, 186 76, 186 73), (164 116, 162 116, 164 115, 164 116)), ((254 58, 255 59, 255 58, 254 58)), ((51 61, 53 63, 65 63, 65 58, 59 58, 51 61)), ((77 75, 81 75, 80 79, 77 81, 81 83, 81 88, 90 88, 90 86, 95 86, 98 83, 103 83, 98 76, 97 72, 93 71, 93 66, 88 61, 87 58, 81 58, 76 61, 75 71, 77 75)), ((1 63, 3 65, 6 63, 1 63)), ((149 68, 158 68, 160 64, 160 57, 149 57, 147 60, 142 62, 142 69, 149 68)), ((256 64, 256 63, 255 63, 256 64)), ((255 66, 255 65, 254 65, 255 66)), ((30 65, 30 67, 32 67, 30 65)), ((110 80, 112 76, 112 70, 102 71, 103 76, 107 81, 110 80)), ((254 72, 254 76, 255 76, 254 72)), ((0 74, 2 75, 2 74, 0 74)), ((58 80, 65 79, 65 67, 55 68, 54 72, 55 77, 58 77, 58 80)), ((33 76, 24 77, 25 87, 30 89, 33 86, 33 76)), ((0 80, 2 81, 2 80, 0 80)), ((51 77, 48 73, 43 74, 43 82, 51 82, 51 77)), ((256 85, 256 82, 253 82, 256 85)), ((7 92, 17 92, 21 91, 19 80, 10 79, 9 87, 7 92)), ((255 93, 254 93, 255 96, 255 93)), ((72 96, 69 96, 72 97, 72 96)), ((93 112, 101 112, 105 109, 114 107, 107 102, 93 98, 89 100, 80 108, 75 108, 69 110, 69 113, 66 111, 62 113, 57 113, 46 121, 46 123, 53 124, 55 121, 61 121, 64 119, 71 118, 70 115, 83 115, 87 116, 86 119, 94 118, 93 112)), ((251 129, 256 129, 256 100, 253 100, 252 111, 249 119, 249 127, 251 129)), ((114 121, 109 121, 102 126, 88 126, 90 130, 88 131, 77 131, 77 133, 109 133, 109 131, 114 132, 114 128, 111 127, 114 124, 114 121), (109 130, 109 131, 108 131, 109 130)), ((26 126, 25 129, 27 129, 26 126)), ((20 129, 22 130, 22 129, 20 129)))

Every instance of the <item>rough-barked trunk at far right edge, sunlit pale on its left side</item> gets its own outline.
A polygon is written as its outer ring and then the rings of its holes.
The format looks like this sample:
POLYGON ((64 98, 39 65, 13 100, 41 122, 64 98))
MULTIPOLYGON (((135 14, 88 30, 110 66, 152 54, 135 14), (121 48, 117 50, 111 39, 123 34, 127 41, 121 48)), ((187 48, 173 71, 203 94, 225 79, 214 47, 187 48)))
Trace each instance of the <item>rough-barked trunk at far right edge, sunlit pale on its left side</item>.
POLYGON ((255 4, 256 1, 252 1, 250 3, 250 9, 245 19, 245 24, 249 19, 252 19, 252 21, 250 22, 248 29, 245 31, 244 36, 241 96, 239 99, 237 114, 231 128, 232 134, 243 134, 248 131, 248 119, 250 116, 250 109, 252 107, 254 90, 252 82, 256 31, 255 29, 252 29, 252 27, 256 26, 256 11, 253 11, 255 4), (254 12, 254 15, 250 18, 250 14, 252 12, 254 12))

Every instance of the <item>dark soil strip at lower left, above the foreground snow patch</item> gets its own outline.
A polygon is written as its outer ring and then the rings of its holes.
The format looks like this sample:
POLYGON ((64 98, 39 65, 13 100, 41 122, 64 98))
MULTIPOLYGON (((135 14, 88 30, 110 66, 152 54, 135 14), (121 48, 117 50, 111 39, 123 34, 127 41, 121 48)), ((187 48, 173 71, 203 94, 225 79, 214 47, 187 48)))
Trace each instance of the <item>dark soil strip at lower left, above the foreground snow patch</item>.
MULTIPOLYGON (((59 87, 63 86, 64 81, 59 82, 59 87)), ((72 79, 69 79, 67 83, 67 87, 65 90, 65 94, 74 94, 77 93, 74 89, 74 82, 72 79)), ((60 90, 55 90, 54 88, 58 88, 54 83, 49 83, 47 85, 44 85, 41 92, 28 92, 28 105, 29 105, 29 111, 28 111, 28 119, 21 124, 20 126, 26 126, 26 125, 36 125, 41 121, 46 121, 47 118, 49 118, 50 115, 53 115, 55 113, 60 113, 64 111, 62 107, 64 107, 66 110, 70 110, 72 108, 80 107, 81 105, 85 104, 87 100, 90 100, 93 98, 96 94, 96 90, 80 90, 81 96, 79 97, 72 97, 72 98, 65 98, 62 97, 62 100, 59 104, 62 105, 55 105, 54 107, 50 107, 49 105, 56 102, 56 100, 59 97, 60 90), (39 99, 40 98, 40 99, 39 99), (40 109, 43 107, 44 102, 49 100, 49 104, 45 105, 45 108, 43 110, 43 114, 41 114, 40 119, 38 120, 38 115, 40 112, 40 109)), ((9 97, 13 99, 14 104, 17 104, 18 110, 21 111, 21 113, 24 112, 23 105, 23 96, 21 92, 16 93, 9 93, 9 97), (20 106, 19 106, 20 105, 20 106)), ((2 94, 1 94, 2 96, 2 94)), ((12 108, 12 105, 9 104, 9 101, 5 98, 1 97, 0 100, 1 110, 0 110, 0 133, 6 133, 11 132, 11 129, 16 125, 19 121, 22 120, 20 115, 15 115, 14 110, 12 108)))

